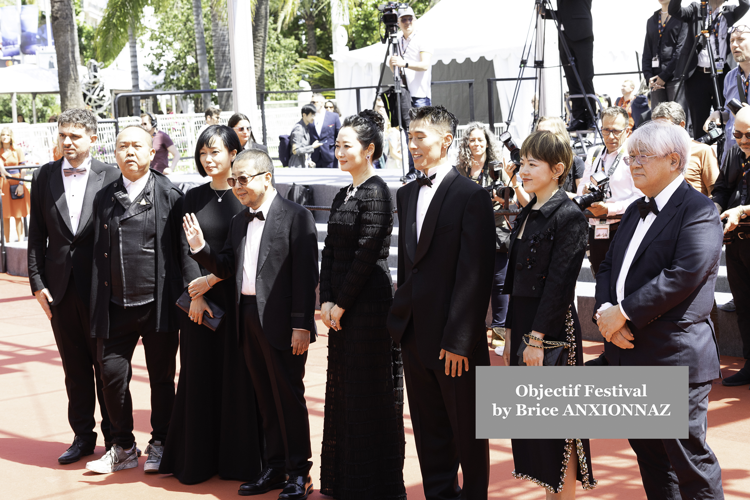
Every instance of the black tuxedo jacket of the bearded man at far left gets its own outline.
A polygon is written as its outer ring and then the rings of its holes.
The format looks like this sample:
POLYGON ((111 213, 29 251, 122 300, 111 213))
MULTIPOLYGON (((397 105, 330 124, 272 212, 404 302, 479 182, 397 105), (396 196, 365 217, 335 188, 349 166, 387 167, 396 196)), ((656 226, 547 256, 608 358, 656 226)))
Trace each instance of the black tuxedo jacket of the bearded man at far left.
POLYGON ((31 178, 31 210, 28 221, 28 282, 31 292, 49 289, 52 304, 59 304, 68 287, 71 269, 78 294, 89 304, 94 254, 92 205, 95 194, 120 175, 115 167, 92 158, 86 181, 83 208, 76 234, 73 234, 62 158, 34 170, 31 178))

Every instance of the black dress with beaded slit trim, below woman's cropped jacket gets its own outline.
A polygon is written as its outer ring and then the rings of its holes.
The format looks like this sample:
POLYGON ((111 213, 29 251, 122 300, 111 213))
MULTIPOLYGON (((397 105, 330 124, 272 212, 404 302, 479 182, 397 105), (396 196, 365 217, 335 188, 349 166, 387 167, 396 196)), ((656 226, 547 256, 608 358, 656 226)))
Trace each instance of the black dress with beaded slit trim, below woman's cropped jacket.
MULTIPOLYGON (((517 241, 520 243, 520 240, 517 241)), ((518 249, 520 244, 514 244, 508 259, 508 267, 515 266, 518 262, 518 249)), ((518 346, 523 343, 523 335, 532 331, 532 324, 541 298, 538 297, 514 297, 511 295, 510 304, 512 308, 511 327, 511 366, 518 366, 518 346)), ((575 332, 575 359, 576 366, 583 365, 583 342, 581 340, 580 322, 574 304, 571 304, 573 316, 573 328, 575 332)), ((508 325, 506 325, 508 326, 508 325)), ((565 325, 560 325, 560 334, 557 340, 565 339, 565 325)), ((567 355, 565 355, 567 358, 567 355)), ((592 490, 596 486, 596 480, 591 471, 591 448, 588 439, 511 439, 513 448, 513 463, 515 470, 512 475, 516 479, 526 479, 538 484, 550 493, 559 493, 562 490, 565 471, 568 461, 575 448, 577 452, 576 479, 583 485, 584 490, 592 490)))

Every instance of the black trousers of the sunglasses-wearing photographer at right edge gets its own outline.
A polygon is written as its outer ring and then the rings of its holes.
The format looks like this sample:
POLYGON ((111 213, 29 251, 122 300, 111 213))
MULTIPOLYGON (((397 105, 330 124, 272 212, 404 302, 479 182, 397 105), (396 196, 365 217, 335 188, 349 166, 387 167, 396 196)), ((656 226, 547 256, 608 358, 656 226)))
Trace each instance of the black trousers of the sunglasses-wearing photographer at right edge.
MULTIPOLYGON (((727 281, 736 307, 742 357, 750 360, 750 240, 735 237, 727 245, 726 256, 727 281)), ((750 369, 750 361, 746 361, 745 366, 750 369)))

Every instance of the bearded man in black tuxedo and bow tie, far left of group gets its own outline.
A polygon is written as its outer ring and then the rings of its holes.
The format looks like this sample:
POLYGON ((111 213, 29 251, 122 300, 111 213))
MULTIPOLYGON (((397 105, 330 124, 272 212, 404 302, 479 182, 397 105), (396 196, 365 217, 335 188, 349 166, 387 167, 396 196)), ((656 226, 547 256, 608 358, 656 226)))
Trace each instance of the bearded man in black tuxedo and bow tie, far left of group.
POLYGON ((94 453, 94 410, 99 400, 101 432, 110 445, 96 339, 89 335, 94 221, 92 204, 118 169, 92 158, 97 121, 87 109, 66 109, 57 119, 63 157, 34 170, 28 223, 28 282, 52 325, 68 391, 68 422, 75 433, 59 463, 94 453))

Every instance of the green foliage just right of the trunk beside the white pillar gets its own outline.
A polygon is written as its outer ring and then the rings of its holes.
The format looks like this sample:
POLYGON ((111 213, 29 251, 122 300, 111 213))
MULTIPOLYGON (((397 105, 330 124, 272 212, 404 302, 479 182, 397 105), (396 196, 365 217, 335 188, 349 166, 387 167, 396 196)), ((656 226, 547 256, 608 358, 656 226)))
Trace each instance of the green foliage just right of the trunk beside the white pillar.
MULTIPOLYGON (((299 87, 299 76, 294 63, 299 57, 300 42, 278 32, 274 17, 269 19, 269 38, 266 45, 266 90, 293 90, 299 87)), ((267 94, 267 100, 296 99, 297 94, 267 94)))

